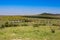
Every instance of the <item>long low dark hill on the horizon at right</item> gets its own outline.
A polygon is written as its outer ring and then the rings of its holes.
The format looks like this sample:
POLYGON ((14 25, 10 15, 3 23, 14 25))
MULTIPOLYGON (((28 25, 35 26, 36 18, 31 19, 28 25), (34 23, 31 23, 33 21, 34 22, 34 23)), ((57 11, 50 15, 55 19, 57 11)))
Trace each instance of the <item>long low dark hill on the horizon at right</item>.
POLYGON ((33 16, 25 16, 29 18, 44 18, 44 19, 60 19, 60 14, 42 13, 33 16))

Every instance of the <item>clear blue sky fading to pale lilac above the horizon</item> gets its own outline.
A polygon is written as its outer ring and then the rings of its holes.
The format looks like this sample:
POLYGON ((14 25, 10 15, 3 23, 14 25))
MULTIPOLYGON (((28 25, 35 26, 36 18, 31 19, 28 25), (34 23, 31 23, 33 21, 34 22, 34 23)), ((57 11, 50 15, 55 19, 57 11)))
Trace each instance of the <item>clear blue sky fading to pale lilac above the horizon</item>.
POLYGON ((0 15, 60 14, 60 0, 0 0, 0 15))

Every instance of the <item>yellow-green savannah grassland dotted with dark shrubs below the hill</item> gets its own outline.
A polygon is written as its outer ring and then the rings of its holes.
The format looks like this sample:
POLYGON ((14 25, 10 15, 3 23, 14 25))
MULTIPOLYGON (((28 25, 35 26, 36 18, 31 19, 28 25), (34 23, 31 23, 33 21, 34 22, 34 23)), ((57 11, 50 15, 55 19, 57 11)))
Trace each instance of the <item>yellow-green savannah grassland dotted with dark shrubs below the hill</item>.
POLYGON ((0 40, 60 40, 60 19, 0 16, 0 40))

